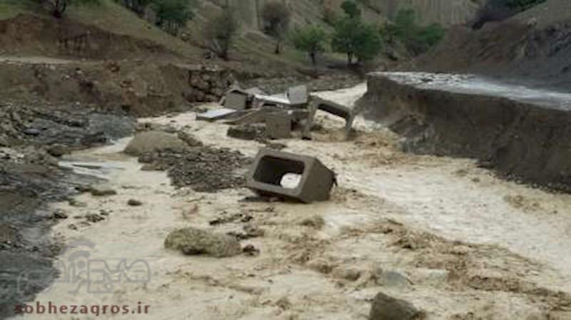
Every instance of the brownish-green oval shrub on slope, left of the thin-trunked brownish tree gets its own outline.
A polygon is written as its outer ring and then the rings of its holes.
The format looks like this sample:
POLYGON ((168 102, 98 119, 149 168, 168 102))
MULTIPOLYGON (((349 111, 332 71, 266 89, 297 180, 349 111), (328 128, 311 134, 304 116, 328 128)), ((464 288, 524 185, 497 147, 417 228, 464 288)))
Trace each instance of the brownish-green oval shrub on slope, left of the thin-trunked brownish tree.
POLYGON ((216 55, 228 60, 228 53, 232 47, 240 24, 236 18, 234 9, 230 6, 223 8, 221 14, 208 20, 205 27, 206 46, 216 55))

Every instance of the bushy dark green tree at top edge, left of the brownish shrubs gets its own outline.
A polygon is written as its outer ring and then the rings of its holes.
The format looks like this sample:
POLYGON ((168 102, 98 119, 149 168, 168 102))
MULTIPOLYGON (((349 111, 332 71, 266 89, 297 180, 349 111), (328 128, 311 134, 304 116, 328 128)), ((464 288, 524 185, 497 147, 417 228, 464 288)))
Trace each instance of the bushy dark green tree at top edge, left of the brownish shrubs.
POLYGON ((153 0, 152 8, 156 25, 173 35, 193 17, 188 0, 153 0))

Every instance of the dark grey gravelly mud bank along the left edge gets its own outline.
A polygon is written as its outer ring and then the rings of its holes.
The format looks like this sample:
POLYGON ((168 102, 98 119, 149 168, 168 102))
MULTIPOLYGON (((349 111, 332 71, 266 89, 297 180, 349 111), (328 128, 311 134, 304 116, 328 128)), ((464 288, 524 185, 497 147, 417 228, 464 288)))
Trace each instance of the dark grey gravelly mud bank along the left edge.
POLYGON ((49 208, 98 181, 54 157, 108 143, 133 130, 131 118, 86 108, 0 105, 0 318, 51 284, 61 243, 49 234, 66 215, 49 208), (89 120, 88 120, 89 119, 89 120))

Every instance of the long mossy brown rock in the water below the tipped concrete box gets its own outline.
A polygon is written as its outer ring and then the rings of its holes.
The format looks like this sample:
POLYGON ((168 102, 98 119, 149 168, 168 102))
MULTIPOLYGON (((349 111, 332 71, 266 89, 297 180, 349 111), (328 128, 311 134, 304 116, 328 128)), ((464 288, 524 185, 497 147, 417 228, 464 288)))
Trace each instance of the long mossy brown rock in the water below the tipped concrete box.
POLYGON ((192 227, 168 234, 165 247, 181 250, 185 254, 208 254, 213 257, 232 257, 242 252, 236 238, 192 227))

